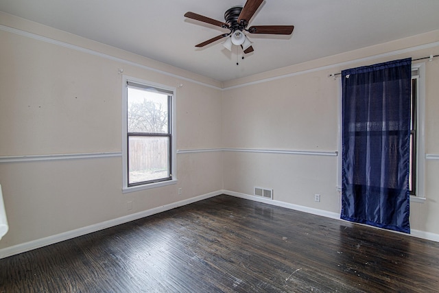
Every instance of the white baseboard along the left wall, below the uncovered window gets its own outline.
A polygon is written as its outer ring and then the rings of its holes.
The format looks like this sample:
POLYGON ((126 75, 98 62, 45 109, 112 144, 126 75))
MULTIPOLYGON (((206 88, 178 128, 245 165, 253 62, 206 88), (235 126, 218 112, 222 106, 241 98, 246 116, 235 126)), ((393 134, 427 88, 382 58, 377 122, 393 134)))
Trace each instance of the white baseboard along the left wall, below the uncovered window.
POLYGON ((25 253, 26 251, 29 251, 29 250, 34 250, 36 248, 48 246, 50 244, 55 244, 57 242, 62 242, 64 240, 72 239, 72 238, 86 235, 89 233, 93 233, 96 231, 104 230, 104 229, 110 228, 112 226, 125 224, 128 222, 134 221, 134 220, 145 218, 145 217, 150 216, 150 215, 154 215, 156 213, 161 213, 163 211, 169 211, 170 209, 175 209, 176 207, 182 207, 182 206, 185 206, 187 204, 191 204, 193 202, 198 202, 200 200, 204 200, 206 198, 212 198, 213 196, 219 196, 219 194, 222 194, 221 190, 213 191, 213 192, 210 192, 209 194, 203 194, 201 196, 195 196, 194 198, 189 198, 187 200, 180 200, 179 202, 165 204, 161 207, 156 207, 154 209, 140 211, 139 213, 125 215, 121 218, 116 218, 116 219, 108 220, 105 222, 93 224, 90 226, 78 228, 75 230, 67 231, 64 233, 36 239, 36 240, 30 241, 30 242, 25 242, 22 244, 16 244, 14 246, 6 247, 6 248, 1 248, 0 249, 0 259, 3 259, 5 257, 10 257, 12 255, 18 255, 19 253, 25 253))

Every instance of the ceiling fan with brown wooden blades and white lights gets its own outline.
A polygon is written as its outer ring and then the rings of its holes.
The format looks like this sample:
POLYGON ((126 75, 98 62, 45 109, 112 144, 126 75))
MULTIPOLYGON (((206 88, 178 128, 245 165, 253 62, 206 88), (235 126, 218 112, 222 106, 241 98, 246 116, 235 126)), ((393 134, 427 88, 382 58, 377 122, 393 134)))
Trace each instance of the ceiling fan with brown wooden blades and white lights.
POLYGON ((249 34, 292 34, 294 25, 254 25, 247 28, 250 19, 262 2, 263 0, 247 0, 244 8, 241 6, 235 6, 228 9, 224 13, 224 19, 226 21, 225 23, 202 16, 200 14, 196 14, 194 12, 186 12, 185 16, 189 19, 195 19, 196 21, 202 21, 204 23, 217 25, 224 29, 230 30, 230 32, 227 34, 215 36, 215 38, 206 40, 203 43, 195 45, 195 47, 204 47, 215 42, 216 40, 227 38, 226 42, 223 43, 224 47, 226 47, 229 51, 232 51, 232 45, 241 46, 241 48, 244 50, 244 53, 247 54, 254 51, 254 49, 252 47, 252 43, 250 40, 248 40, 244 32, 248 32, 249 34))

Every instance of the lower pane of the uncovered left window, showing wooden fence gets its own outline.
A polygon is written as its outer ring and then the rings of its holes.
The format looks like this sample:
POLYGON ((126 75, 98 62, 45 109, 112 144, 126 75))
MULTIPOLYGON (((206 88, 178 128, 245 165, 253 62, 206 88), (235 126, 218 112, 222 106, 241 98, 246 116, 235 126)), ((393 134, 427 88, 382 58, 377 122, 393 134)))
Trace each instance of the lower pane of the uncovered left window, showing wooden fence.
POLYGON ((169 137, 129 137, 128 184, 170 178, 169 137))

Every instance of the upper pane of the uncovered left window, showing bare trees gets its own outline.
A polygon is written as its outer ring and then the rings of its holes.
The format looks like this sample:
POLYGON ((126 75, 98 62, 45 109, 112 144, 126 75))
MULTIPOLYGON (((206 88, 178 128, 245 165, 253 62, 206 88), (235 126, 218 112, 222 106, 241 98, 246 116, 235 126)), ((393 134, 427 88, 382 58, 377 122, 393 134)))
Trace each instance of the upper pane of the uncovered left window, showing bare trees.
POLYGON ((128 87, 128 132, 168 133, 168 95, 128 87))

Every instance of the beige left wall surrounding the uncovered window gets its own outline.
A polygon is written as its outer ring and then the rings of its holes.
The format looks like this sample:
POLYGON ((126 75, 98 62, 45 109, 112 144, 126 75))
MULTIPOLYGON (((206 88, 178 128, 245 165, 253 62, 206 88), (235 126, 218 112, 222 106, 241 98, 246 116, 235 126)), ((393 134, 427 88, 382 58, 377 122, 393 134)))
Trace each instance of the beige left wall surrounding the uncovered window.
MULTIPOLYGON (((120 153, 119 68, 176 88, 178 150, 221 144, 219 82, 8 14, 0 20, 13 29, 0 30, 3 158, 120 153)), ((0 248, 222 189, 221 152, 178 154, 177 165, 176 185, 122 194, 121 156, 0 163, 10 226, 0 248)))

